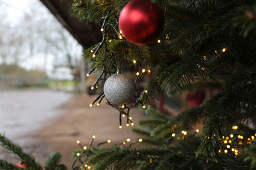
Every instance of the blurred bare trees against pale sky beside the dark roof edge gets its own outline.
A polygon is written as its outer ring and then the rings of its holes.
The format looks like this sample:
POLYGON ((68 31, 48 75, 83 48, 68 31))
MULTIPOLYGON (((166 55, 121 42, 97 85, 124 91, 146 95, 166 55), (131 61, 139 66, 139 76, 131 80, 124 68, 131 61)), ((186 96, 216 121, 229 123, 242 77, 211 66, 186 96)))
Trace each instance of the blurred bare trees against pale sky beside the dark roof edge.
MULTIPOLYGON (((0 17, 4 18, 6 14, 1 8, 4 9, 0 0, 0 17)), ((15 25, 11 26, 8 21, 0 20, 0 64, 19 65, 41 57, 44 61, 42 69, 49 73, 47 66, 53 58, 52 68, 70 69, 76 89, 79 89, 81 51, 77 41, 39 1, 32 1, 15 25)))

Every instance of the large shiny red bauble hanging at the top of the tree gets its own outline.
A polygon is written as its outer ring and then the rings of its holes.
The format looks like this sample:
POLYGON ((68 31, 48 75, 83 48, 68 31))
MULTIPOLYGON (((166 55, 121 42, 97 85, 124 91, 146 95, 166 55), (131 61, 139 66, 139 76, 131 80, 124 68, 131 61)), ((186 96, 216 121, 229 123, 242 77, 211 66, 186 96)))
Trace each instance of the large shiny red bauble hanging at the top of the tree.
POLYGON ((163 27, 163 11, 149 0, 133 0, 120 13, 119 28, 125 39, 136 45, 156 40, 163 27))

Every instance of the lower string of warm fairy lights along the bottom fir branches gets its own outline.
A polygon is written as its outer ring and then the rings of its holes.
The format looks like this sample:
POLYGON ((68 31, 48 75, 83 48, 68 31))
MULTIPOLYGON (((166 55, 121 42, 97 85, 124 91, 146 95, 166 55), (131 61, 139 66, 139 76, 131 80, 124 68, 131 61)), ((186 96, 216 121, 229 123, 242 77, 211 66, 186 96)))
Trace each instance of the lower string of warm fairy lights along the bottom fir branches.
MULTIPOLYGON (((232 129, 232 133, 231 134, 226 134, 221 136, 221 148, 219 148, 216 152, 220 153, 220 154, 231 154, 234 155, 234 157, 237 157, 239 154, 243 154, 243 150, 239 150, 239 143, 242 143, 241 145, 250 145, 252 143, 252 141, 256 138, 256 134, 252 134, 250 137, 247 137, 245 135, 242 135, 242 133, 239 131, 239 127, 237 125, 234 125, 231 127, 232 129), (246 137, 246 138, 245 138, 246 137)), ((174 129, 173 129, 174 130, 174 129)), ((166 142, 164 143, 163 146, 168 146, 170 143, 172 143, 173 139, 186 139, 186 138, 190 138, 191 136, 195 136, 196 134, 198 134, 200 132, 200 129, 193 129, 194 132, 188 131, 188 129, 184 129, 181 130, 179 132, 172 132, 170 134, 170 138, 168 138, 166 140, 166 142), (188 137, 186 137, 188 136, 188 137)), ((213 135, 216 136, 216 135, 213 135)), ((90 158, 90 155, 92 155, 92 144, 95 141, 96 136, 92 136, 92 141, 89 145, 89 147, 87 148, 86 146, 81 144, 81 141, 77 141, 77 145, 79 145, 79 147, 81 148, 81 151, 76 153, 76 157, 74 159, 74 162, 72 164, 71 169, 75 170, 78 169, 79 167, 83 167, 85 169, 90 169, 92 168, 93 165, 88 165, 86 164, 86 161, 88 160, 88 158, 90 158), (78 167, 74 167, 74 165, 76 164, 76 162, 79 161, 79 163, 81 164, 81 166, 78 167)), ((205 138, 209 138, 209 137, 205 137, 205 138)), ((143 142, 143 139, 137 139, 132 141, 131 138, 127 138, 124 141, 121 141, 120 143, 116 143, 116 146, 120 146, 120 147, 127 147, 127 148, 131 148, 132 145, 135 145, 136 143, 141 143, 143 142), (128 145, 129 144, 129 145, 128 145), (126 145, 126 146, 125 146, 126 145), (128 145, 128 146, 127 146, 128 145)), ((104 145, 106 143, 111 143, 111 140, 108 139, 107 141, 103 141, 101 143, 98 143, 96 146, 99 147, 101 145, 104 145)), ((140 156, 140 153, 137 152, 137 155, 140 156)), ((150 162, 153 162, 153 158, 148 158, 150 162)))

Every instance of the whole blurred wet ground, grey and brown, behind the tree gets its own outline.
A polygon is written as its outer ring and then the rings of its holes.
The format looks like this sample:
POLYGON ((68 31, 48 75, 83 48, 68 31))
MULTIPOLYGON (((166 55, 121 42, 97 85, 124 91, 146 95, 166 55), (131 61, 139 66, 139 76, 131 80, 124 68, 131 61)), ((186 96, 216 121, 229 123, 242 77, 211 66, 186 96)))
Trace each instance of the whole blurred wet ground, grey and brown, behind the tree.
MULTIPOLYGON (((131 131, 138 126, 139 120, 148 118, 138 108, 133 108, 130 113, 135 125, 119 129, 119 112, 104 104, 105 99, 100 106, 90 107, 95 97, 48 90, 2 94, 0 91, 0 132, 6 132, 6 136, 34 155, 42 165, 49 153, 60 152, 61 163, 67 167, 72 164, 72 152, 79 149, 78 139, 88 146, 95 135, 93 146, 110 139, 111 143, 104 145, 108 147, 127 138, 142 137, 131 131)), ((1 147, 0 159, 13 164, 19 161, 1 147)))

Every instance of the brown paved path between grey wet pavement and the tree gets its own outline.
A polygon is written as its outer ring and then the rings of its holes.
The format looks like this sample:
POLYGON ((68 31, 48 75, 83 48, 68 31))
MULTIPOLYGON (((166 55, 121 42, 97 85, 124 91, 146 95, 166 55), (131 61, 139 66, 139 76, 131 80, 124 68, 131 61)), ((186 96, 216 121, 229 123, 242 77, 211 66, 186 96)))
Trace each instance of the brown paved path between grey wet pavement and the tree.
MULTIPOLYGON (((42 164, 45 164, 45 159, 49 153, 59 151, 63 155, 61 162, 70 167, 72 164, 71 153, 79 149, 76 144, 78 139, 83 145, 88 146, 92 136, 95 135, 94 145, 110 139, 111 143, 104 145, 110 146, 127 138, 136 140, 141 137, 131 132, 131 126, 124 126, 125 120, 123 128, 119 129, 119 113, 111 106, 104 104, 105 101, 102 101, 100 106, 90 108, 89 105, 95 97, 97 96, 86 94, 73 96, 66 103, 58 106, 58 110, 65 110, 65 114, 51 117, 51 114, 47 113, 49 114, 46 115, 48 117, 47 122, 45 120, 37 122, 37 124, 47 124, 44 129, 20 136, 17 140, 22 143, 26 152, 35 155, 42 164)), ((44 101, 47 102, 47 99, 44 101)), ((43 106, 46 107, 47 104, 43 104, 43 106)), ((44 110, 44 107, 38 107, 38 110, 44 110)), ((147 118, 138 108, 131 110, 131 117, 135 127, 139 120, 147 118)))

